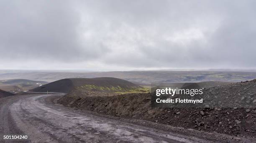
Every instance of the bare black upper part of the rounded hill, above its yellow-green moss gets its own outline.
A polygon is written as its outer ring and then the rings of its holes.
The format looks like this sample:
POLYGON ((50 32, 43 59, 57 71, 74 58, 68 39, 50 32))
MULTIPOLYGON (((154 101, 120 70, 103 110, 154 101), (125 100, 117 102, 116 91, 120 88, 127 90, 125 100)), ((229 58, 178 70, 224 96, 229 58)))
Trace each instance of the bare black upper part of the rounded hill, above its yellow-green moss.
POLYGON ((134 87, 139 87, 132 82, 117 79, 113 77, 99 77, 99 78, 70 78, 70 79, 61 79, 58 81, 39 86, 30 91, 33 92, 62 92, 69 93, 69 91, 80 88, 84 85, 93 85, 97 87, 120 87, 123 89, 131 89, 134 87))

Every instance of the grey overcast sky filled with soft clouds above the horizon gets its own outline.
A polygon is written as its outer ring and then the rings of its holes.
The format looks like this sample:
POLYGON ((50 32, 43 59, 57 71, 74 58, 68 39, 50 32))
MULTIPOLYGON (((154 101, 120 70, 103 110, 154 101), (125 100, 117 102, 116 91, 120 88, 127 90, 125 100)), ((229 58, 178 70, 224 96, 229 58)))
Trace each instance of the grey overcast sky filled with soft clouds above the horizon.
POLYGON ((1 0, 0 69, 256 69, 255 0, 1 0))

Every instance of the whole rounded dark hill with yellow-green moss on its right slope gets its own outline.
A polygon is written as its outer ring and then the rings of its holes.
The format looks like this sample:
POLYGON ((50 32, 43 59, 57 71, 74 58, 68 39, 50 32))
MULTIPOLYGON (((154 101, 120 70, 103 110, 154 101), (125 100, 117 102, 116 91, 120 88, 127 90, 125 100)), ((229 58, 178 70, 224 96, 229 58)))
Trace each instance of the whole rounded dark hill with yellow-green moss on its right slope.
POLYGON ((100 78, 71 78, 61 79, 49 84, 32 89, 33 92, 76 92, 83 94, 87 91, 100 91, 100 92, 125 92, 140 90, 141 87, 123 79, 112 77, 100 78))

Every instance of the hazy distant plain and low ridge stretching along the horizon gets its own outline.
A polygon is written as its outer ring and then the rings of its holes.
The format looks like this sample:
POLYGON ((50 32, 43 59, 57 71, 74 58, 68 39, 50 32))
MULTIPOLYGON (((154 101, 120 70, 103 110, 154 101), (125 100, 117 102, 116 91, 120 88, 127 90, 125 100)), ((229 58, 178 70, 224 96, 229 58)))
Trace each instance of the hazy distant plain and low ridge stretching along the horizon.
POLYGON ((123 72, 0 72, 0 79, 56 81, 67 78, 114 77, 140 84, 155 82, 239 82, 256 78, 256 72, 230 71, 123 71, 123 72))

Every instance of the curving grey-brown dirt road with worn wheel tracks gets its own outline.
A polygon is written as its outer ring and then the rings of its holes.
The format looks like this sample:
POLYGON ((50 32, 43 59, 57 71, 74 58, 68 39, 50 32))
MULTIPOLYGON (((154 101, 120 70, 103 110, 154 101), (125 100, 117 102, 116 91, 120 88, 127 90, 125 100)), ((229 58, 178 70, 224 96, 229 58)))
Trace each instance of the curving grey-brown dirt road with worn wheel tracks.
MULTIPOLYGON (((125 120, 56 104, 61 95, 33 94, 0 99, 1 143, 210 143, 125 120), (28 139, 5 139, 26 135, 28 139)), ((241 140, 240 140, 241 141, 241 140)), ((239 142, 240 142, 239 141, 239 142)), ((248 141, 249 142, 249 141, 248 141)))

